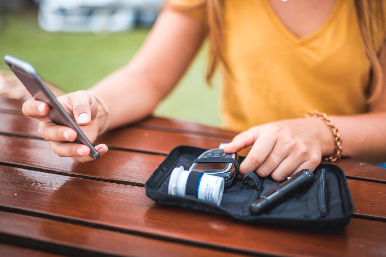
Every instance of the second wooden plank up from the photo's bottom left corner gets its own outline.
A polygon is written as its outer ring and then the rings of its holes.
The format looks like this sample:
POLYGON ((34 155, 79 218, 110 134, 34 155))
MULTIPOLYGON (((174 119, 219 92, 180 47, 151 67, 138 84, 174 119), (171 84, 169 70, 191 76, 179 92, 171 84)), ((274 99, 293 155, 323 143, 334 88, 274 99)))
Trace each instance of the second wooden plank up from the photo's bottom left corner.
POLYGON ((44 247, 49 247, 49 250, 52 252, 57 251, 66 255, 81 256, 86 253, 89 255, 102 253, 106 255, 149 257, 245 256, 221 250, 1 211, 0 234, 3 234, 3 237, 11 237, 11 240, 16 241, 14 244, 18 244, 18 241, 24 241, 20 242, 20 244, 24 245, 35 243, 36 247, 42 248, 41 250, 44 250, 44 247))

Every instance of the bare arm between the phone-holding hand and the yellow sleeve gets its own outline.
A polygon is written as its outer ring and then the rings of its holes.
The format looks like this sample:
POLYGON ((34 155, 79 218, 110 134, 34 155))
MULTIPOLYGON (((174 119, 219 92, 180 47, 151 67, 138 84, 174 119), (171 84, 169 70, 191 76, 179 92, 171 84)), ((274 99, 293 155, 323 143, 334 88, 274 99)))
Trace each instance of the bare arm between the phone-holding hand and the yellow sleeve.
POLYGON ((163 10, 130 63, 91 89, 109 109, 108 128, 151 114, 183 76, 205 33, 199 21, 163 10))

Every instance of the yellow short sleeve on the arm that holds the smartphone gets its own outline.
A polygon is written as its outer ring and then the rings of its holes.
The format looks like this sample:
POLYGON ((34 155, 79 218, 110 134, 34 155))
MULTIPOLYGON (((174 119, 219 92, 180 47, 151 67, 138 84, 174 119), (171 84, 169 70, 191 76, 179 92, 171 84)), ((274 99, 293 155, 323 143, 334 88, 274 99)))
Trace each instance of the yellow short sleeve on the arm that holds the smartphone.
POLYGON ((203 24, 207 24, 207 1, 206 0, 166 0, 164 8, 172 8, 177 12, 184 13, 203 24))

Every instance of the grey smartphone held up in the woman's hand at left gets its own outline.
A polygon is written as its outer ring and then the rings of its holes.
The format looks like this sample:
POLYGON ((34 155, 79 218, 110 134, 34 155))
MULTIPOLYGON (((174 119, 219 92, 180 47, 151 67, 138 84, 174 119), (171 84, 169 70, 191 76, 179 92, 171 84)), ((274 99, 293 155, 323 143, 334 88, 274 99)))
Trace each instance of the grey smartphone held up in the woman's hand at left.
POLYGON ((25 88, 30 92, 35 100, 45 102, 51 108, 48 117, 53 123, 72 128, 78 134, 75 142, 79 144, 85 144, 90 148, 90 156, 94 159, 99 158, 97 149, 86 138, 85 134, 81 131, 75 121, 64 110, 63 106, 56 100, 56 96, 48 89, 46 83, 37 74, 34 67, 28 62, 24 62, 10 55, 5 55, 5 63, 20 79, 25 88))

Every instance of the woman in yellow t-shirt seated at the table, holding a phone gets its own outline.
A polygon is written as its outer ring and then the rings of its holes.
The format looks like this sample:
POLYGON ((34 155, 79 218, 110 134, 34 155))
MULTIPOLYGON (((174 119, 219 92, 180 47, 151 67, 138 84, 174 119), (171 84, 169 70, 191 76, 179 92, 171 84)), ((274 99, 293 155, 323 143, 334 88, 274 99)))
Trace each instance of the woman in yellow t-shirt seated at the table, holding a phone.
MULTIPOLYGON (((315 169, 322 156, 339 159, 342 147, 344 156, 385 160, 381 0, 170 0, 127 66, 59 101, 93 142, 105 129, 151 114, 206 36, 208 80, 223 67, 223 123, 244 131, 224 151, 253 145, 242 175, 255 170, 281 181, 315 169), (303 118, 315 109, 328 117, 303 118)), ((90 149, 70 143, 75 131, 50 122, 46 104, 27 101, 23 112, 39 120, 39 133, 59 156, 91 160, 90 149)), ((105 144, 96 148, 107 152, 105 144)))

